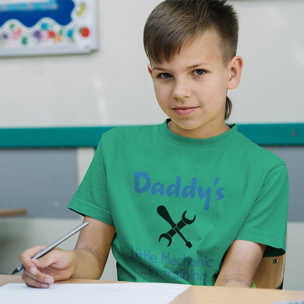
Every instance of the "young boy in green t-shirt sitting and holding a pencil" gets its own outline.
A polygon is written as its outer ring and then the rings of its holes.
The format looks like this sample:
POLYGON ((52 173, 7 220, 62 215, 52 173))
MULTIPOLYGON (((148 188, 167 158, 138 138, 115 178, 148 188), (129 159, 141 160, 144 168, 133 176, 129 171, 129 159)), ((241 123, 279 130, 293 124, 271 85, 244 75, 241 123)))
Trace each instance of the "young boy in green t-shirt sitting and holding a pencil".
POLYGON ((285 164, 225 123, 243 67, 237 41, 225 1, 156 7, 144 47, 169 119, 102 135, 69 204, 89 225, 73 251, 22 253, 27 285, 98 279, 112 246, 121 281, 250 287, 263 254, 285 252, 285 164))

